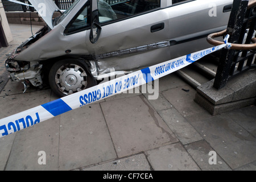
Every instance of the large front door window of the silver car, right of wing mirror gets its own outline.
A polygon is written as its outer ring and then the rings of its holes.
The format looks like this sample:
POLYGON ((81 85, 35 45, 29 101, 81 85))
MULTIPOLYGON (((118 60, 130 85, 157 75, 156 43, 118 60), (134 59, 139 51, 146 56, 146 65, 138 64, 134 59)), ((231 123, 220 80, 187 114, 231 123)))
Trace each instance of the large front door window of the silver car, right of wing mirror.
POLYGON ((97 0, 100 23, 160 7, 160 0, 97 0))

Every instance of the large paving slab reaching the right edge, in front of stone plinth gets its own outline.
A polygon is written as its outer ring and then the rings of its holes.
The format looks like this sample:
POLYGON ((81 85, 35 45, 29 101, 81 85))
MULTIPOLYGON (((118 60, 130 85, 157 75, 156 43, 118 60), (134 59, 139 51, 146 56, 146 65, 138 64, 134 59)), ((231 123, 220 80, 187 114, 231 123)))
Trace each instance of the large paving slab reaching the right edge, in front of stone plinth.
POLYGON ((191 122, 192 126, 232 168, 256 160, 256 139, 228 115, 191 122))

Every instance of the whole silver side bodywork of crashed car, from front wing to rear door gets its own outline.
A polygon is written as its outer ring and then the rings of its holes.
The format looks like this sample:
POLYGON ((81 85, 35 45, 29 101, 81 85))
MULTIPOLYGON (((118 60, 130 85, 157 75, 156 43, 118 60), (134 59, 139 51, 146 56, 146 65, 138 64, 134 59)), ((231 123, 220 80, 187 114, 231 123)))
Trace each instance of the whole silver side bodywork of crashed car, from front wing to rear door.
MULTIPOLYGON (((15 57, 15 60, 42 61, 65 55, 96 56, 160 41, 180 42, 208 32, 222 30, 221 28, 226 26, 229 18, 229 13, 222 13, 222 9, 225 5, 232 3, 231 0, 197 0, 105 24, 101 27, 98 42, 92 44, 89 40, 90 30, 71 35, 63 33, 67 23, 85 2, 80 1, 63 22, 55 26, 39 41, 24 49, 15 57), (217 6, 216 17, 209 16, 211 3, 217 6), (151 32, 151 27, 159 23, 164 23, 163 30, 151 32), (66 50, 71 52, 65 53, 66 50)), ((98 59, 95 60, 95 63, 98 73, 108 72, 112 68, 115 71, 130 71, 208 47, 211 45, 207 43, 206 39, 198 39, 175 46, 98 59)))

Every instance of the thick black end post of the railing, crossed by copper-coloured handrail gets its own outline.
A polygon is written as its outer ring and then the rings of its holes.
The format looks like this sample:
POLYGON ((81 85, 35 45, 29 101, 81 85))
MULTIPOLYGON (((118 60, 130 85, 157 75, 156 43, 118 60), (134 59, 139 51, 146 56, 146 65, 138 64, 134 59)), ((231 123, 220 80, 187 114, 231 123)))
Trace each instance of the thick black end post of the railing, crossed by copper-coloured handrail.
MULTIPOLYGON (((230 35, 230 43, 238 43, 245 13, 247 10, 248 0, 234 0, 232 11, 228 22, 227 33, 230 35)), ((220 62, 218 64, 214 88, 221 89, 228 81, 230 67, 234 57, 233 49, 222 49, 220 62)))

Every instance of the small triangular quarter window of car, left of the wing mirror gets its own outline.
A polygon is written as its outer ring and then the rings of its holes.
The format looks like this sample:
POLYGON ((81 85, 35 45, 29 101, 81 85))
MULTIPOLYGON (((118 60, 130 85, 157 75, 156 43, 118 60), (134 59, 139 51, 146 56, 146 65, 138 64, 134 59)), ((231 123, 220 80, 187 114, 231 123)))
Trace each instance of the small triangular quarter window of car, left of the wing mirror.
POLYGON ((69 34, 71 32, 76 32, 80 30, 84 30, 85 27, 88 27, 89 24, 89 8, 90 6, 85 6, 78 15, 71 21, 71 23, 67 26, 65 30, 65 34, 69 34))

